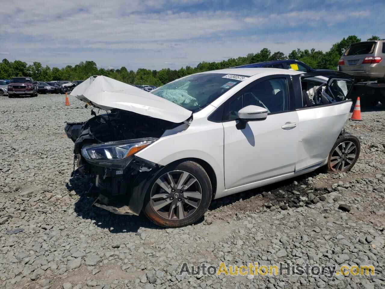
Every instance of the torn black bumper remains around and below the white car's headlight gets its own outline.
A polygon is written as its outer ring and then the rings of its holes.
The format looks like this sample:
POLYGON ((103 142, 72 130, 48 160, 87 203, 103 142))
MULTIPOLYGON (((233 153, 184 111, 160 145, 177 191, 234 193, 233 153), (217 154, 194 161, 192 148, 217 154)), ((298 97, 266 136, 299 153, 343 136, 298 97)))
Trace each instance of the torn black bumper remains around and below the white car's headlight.
POLYGON ((65 127, 67 136, 75 142, 71 176, 89 180, 87 195, 95 197, 93 206, 120 215, 139 215, 152 178, 162 166, 137 156, 123 170, 88 163, 80 153, 81 144, 94 136, 83 129, 83 124, 68 123, 65 127))

